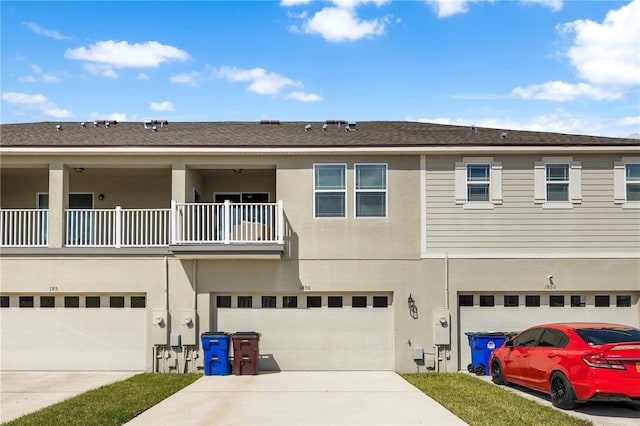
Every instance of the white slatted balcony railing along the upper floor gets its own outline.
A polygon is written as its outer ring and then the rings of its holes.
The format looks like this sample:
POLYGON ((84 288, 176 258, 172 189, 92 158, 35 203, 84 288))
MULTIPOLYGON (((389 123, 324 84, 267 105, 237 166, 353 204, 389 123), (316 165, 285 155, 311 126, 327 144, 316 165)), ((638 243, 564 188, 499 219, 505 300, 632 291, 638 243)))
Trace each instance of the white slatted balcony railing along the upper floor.
MULTIPOLYGON (((67 209, 65 247, 168 247, 177 256, 282 253, 277 203, 177 203, 168 209, 67 209)), ((47 247, 48 211, 0 210, 0 247, 47 247)))

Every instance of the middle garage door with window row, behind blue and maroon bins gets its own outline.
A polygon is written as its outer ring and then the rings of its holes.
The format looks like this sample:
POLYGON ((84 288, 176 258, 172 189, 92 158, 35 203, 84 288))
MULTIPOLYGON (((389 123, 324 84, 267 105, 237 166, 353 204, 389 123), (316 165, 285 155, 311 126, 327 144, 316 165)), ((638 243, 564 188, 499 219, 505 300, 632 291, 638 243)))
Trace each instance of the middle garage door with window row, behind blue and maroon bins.
POLYGON ((261 370, 393 369, 390 295, 214 295, 212 302, 219 331, 261 334, 261 370))

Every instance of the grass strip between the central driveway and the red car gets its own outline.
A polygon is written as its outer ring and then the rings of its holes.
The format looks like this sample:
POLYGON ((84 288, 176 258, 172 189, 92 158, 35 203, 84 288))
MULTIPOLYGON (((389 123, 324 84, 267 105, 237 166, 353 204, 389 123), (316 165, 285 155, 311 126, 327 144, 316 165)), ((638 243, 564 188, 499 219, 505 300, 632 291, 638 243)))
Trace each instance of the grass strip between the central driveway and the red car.
POLYGON ((593 425, 467 374, 402 374, 402 377, 472 426, 593 425))

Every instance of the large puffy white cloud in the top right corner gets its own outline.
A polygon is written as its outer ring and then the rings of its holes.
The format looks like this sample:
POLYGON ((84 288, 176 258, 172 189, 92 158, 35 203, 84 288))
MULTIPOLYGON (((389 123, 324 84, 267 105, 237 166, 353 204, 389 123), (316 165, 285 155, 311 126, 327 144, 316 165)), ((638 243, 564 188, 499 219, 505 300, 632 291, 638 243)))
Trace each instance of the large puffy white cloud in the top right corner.
POLYGON ((573 34, 567 56, 591 84, 633 86, 640 76, 640 0, 607 13, 602 24, 578 20, 559 28, 573 34))

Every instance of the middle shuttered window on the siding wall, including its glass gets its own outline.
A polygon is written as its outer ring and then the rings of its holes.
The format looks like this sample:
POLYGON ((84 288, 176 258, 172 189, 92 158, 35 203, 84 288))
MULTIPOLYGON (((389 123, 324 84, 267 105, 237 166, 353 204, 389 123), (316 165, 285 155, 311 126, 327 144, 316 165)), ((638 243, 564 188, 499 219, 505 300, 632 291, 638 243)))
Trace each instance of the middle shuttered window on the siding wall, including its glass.
POLYGON ((582 166, 571 158, 543 158, 534 164, 535 202, 545 208, 582 203, 582 166))

